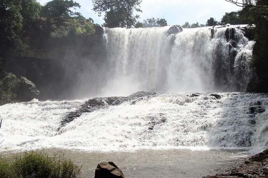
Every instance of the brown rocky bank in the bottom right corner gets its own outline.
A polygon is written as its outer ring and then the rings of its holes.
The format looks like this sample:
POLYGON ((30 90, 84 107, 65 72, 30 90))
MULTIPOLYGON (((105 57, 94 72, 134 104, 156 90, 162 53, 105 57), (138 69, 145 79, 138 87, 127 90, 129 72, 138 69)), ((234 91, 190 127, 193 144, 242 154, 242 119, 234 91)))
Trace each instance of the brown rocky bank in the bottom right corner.
POLYGON ((268 149, 258 153, 244 164, 229 168, 223 173, 214 176, 205 176, 203 178, 264 178, 268 177, 268 149))

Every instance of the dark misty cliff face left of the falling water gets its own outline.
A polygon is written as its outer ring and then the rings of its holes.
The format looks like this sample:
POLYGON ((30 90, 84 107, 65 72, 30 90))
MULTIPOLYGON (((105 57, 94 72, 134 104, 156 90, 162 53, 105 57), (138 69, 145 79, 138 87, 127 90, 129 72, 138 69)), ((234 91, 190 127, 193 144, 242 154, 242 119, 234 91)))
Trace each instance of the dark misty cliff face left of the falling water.
MULTIPOLYGON (((89 37, 42 39, 43 43, 47 43, 41 46, 38 46, 36 34, 28 31, 25 40, 31 45, 26 51, 13 51, 4 59, 4 68, 35 83, 40 90, 40 99, 70 99, 79 90, 77 86, 85 71, 93 65, 101 65, 105 59, 103 29, 99 26, 94 28, 96 33, 89 37)), ((23 96, 21 98, 25 101, 23 96)))

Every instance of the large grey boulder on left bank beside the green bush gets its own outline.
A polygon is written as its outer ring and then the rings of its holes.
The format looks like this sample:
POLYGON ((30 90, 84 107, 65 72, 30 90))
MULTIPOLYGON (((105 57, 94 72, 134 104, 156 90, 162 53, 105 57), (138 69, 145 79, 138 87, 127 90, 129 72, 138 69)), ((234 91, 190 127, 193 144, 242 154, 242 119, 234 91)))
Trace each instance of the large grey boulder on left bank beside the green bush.
POLYGON ((38 88, 32 81, 28 80, 26 77, 21 77, 17 97, 19 101, 31 101, 33 98, 38 98, 39 94, 38 88))

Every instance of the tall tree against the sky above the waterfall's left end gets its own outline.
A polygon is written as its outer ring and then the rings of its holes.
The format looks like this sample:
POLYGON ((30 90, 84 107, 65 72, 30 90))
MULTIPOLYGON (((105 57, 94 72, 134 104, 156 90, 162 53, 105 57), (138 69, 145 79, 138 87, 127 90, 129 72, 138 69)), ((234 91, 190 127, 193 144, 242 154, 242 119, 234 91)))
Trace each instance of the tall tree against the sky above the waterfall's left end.
POLYGON ((105 27, 131 28, 135 25, 139 15, 134 15, 134 10, 142 12, 140 7, 142 0, 92 0, 93 10, 101 16, 105 12, 105 27), (111 22, 110 22, 111 20, 111 22))

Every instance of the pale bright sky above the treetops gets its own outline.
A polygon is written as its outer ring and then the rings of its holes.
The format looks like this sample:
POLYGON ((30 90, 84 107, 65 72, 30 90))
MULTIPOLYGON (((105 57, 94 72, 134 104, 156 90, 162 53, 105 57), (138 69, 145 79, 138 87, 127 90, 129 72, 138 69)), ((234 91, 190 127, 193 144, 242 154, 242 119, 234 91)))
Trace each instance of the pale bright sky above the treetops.
MULTIPOLYGON (((42 5, 49 0, 37 0, 42 5)), ((99 17, 93 10, 91 0, 74 0, 81 8, 74 11, 80 12, 85 18, 92 18, 94 23, 104 23, 102 14, 99 17)), ((220 21, 225 12, 237 11, 241 7, 231 4, 225 0, 143 0, 141 3, 142 13, 138 21, 147 18, 165 18, 168 25, 183 25, 186 21, 190 24, 198 22, 205 24, 210 18, 220 21)))

